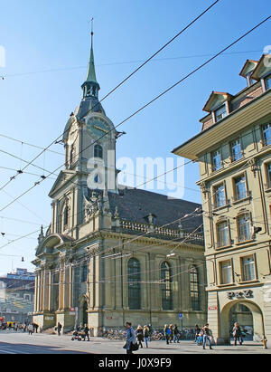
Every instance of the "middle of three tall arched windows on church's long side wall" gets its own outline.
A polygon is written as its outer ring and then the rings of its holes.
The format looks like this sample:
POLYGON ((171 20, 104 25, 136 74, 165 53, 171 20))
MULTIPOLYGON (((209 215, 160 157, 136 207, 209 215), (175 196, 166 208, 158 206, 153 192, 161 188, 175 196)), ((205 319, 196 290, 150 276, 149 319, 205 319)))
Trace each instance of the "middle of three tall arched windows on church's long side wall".
POLYGON ((162 309, 173 310, 173 281, 172 268, 168 262, 161 265, 161 291, 162 291, 162 309))

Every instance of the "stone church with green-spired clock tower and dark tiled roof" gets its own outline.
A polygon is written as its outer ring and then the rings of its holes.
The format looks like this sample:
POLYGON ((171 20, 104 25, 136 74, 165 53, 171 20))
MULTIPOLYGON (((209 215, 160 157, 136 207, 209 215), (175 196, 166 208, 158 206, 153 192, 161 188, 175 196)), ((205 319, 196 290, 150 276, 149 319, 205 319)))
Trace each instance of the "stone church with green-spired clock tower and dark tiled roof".
MULTIPOLYGON (((93 39, 93 34, 92 34, 93 39)), ((33 321, 94 335, 125 322, 194 327, 206 320, 201 205, 117 186, 120 133, 98 100, 93 43, 83 98, 63 134, 65 167, 39 236, 33 321)))

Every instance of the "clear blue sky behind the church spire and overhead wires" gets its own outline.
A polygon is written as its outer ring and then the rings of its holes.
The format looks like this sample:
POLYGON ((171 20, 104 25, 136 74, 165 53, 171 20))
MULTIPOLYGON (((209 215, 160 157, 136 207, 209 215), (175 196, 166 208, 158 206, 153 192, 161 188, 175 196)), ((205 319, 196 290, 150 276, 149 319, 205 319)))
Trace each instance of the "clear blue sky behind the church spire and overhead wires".
MULTIPOLYGON (((5 78, 0 79, 0 189, 23 167, 16 157, 29 161, 41 151, 29 144, 45 148, 61 136, 70 112, 79 105, 89 62, 91 17, 102 98, 213 2, 0 0, 0 51, 5 50, 5 66, 0 67, 0 76, 5 78)), ((269 0, 257 4, 220 0, 103 101, 107 117, 117 125, 265 19, 270 10, 269 0)), ((239 72, 247 59, 258 60, 271 44, 270 28, 268 21, 119 127, 126 135, 118 139, 117 159, 129 157, 135 163, 138 157, 171 158, 176 166, 172 150, 201 130, 199 120, 205 116, 202 108, 210 92, 236 94, 245 88, 239 72)), ((51 171, 61 167, 62 145, 53 145, 51 150, 54 152, 46 152, 35 165, 51 171)), ((201 203, 196 186, 198 165, 183 169, 182 198, 201 203)), ((51 223, 48 193, 57 175, 5 207, 46 175, 37 167, 25 172, 31 174, 18 176, 0 191, 0 210, 5 208, 0 212, 0 233, 5 233, 0 234, 0 275, 20 267, 34 270, 31 262, 38 231, 42 224, 51 223), (13 242, 24 235, 28 236, 13 242)))

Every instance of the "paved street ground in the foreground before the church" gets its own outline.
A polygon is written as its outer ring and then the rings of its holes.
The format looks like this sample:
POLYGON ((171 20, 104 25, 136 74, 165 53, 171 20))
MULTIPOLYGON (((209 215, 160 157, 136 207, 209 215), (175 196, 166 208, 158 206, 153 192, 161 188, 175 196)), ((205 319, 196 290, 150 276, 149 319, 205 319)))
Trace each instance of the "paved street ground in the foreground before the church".
MULTIPOLYGON (((126 355, 124 341, 91 338, 88 341, 71 341, 70 336, 46 334, 3 333, 0 332, 0 354, 117 354, 126 355)), ((271 354, 271 349, 263 349, 261 344, 252 341, 242 346, 214 346, 213 350, 197 346, 193 341, 166 345, 165 341, 152 341, 149 348, 140 348, 136 355, 143 354, 271 354)))

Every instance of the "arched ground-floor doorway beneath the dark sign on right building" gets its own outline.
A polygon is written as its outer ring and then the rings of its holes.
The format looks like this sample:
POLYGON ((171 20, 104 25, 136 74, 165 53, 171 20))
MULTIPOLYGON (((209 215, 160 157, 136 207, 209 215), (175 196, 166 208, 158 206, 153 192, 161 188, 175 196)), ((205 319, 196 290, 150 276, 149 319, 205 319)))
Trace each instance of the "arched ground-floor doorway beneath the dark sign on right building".
MULTIPOLYGON (((232 321, 234 318, 236 318, 235 321, 238 321, 237 310, 242 309, 241 306, 249 310, 245 318, 246 321, 250 321, 251 329, 253 329, 253 339, 259 341, 265 333, 263 314, 257 304, 250 300, 233 300, 225 305, 220 313, 219 339, 223 339, 225 343, 229 343, 230 341, 229 331, 232 327, 232 321), (251 316, 251 319, 249 319, 249 316, 251 316)), ((245 308, 243 308, 243 310, 245 310, 245 308)), ((244 316, 244 314, 242 315, 244 316)), ((240 319, 244 320, 245 318, 243 317, 240 319)), ((245 326, 245 324, 240 324, 240 326, 245 326)))

